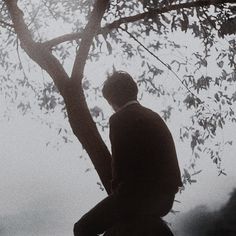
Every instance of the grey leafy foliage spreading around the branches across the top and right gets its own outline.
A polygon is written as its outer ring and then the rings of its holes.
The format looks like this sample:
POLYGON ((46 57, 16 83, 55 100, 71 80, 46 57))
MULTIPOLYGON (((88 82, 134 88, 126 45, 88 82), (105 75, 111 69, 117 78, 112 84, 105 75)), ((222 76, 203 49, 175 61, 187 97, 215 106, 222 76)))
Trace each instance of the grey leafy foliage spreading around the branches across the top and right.
MULTIPOLYGON (((47 43, 61 34, 83 32, 94 2, 21 0, 19 6, 33 39, 47 43)), ((160 109, 166 121, 175 112, 189 114, 190 119, 180 127, 180 140, 189 143, 193 154, 183 171, 185 183, 194 182, 192 176, 200 173, 195 170, 196 161, 205 154, 216 164, 219 174, 225 174, 220 150, 232 141, 219 142, 217 137, 229 122, 236 122, 236 6, 222 1, 213 5, 199 2, 171 10, 172 6, 194 2, 110 1, 101 24, 103 30, 94 37, 87 62, 108 58, 115 68, 120 67, 120 61, 128 68, 131 60, 137 61, 137 83, 143 91, 140 97, 151 94, 167 101, 166 109, 160 109), (131 21, 130 16, 141 14, 139 20, 131 21), (121 18, 122 24, 112 28, 112 23, 121 18), (193 44, 197 47, 191 48, 193 44), (158 56, 164 54, 167 56, 158 56)), ((60 111, 67 117, 55 85, 20 48, 5 1, 0 3, 0 25, 1 94, 23 114, 37 105, 44 113, 60 111), (29 94, 34 100, 28 99, 29 94)), ((51 47, 68 73, 80 43, 80 37, 72 37, 51 47)), ((91 115, 102 130, 106 129, 107 116, 101 109, 98 85, 87 79, 83 89, 91 115)))

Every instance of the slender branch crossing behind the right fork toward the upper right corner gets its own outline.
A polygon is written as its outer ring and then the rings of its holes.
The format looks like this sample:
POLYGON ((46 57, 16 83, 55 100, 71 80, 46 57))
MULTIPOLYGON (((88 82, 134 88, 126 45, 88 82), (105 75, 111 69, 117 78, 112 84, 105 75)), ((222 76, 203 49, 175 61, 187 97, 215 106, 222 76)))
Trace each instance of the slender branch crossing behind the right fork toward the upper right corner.
MULTIPOLYGON (((106 26, 100 28, 97 30, 97 34, 102 34, 103 32, 109 32, 113 29, 117 29, 121 24, 127 24, 127 23, 133 23, 136 21, 143 20, 144 18, 150 18, 153 17, 153 15, 163 14, 174 10, 180 10, 180 9, 188 9, 192 7, 206 7, 206 6, 215 6, 219 4, 225 4, 225 3, 235 3, 235 0, 200 0, 200 1, 194 1, 194 2, 188 2, 188 3, 181 3, 181 4, 175 4, 168 7, 163 7, 159 9, 154 10, 148 10, 147 12, 143 12, 140 14, 136 14, 133 16, 123 17, 119 20, 113 21, 110 24, 107 24, 106 26)), ((80 39, 82 36, 81 32, 78 33, 71 33, 71 34, 65 34, 62 36, 59 36, 57 38, 48 40, 44 42, 44 45, 48 48, 52 48, 60 43, 66 42, 66 41, 73 41, 80 39)))

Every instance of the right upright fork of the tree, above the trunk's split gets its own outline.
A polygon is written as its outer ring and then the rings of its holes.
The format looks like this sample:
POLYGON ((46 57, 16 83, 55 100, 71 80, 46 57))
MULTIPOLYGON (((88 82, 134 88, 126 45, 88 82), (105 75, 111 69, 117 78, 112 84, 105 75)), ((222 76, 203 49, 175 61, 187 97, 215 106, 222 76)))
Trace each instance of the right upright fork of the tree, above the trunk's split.
POLYGON ((100 23, 108 3, 109 0, 97 0, 94 4, 93 11, 91 13, 89 22, 84 29, 80 47, 75 58, 71 75, 72 80, 82 80, 84 66, 88 57, 89 49, 91 47, 94 36, 97 34, 97 31, 100 28, 100 23))

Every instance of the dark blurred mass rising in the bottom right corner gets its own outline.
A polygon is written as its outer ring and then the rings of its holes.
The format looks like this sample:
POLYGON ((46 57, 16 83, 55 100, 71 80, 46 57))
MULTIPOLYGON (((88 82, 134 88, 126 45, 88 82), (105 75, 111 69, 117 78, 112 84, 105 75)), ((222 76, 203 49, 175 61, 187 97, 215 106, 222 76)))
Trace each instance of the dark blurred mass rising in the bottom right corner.
POLYGON ((177 218, 176 235, 230 236, 236 235, 236 189, 219 210, 199 205, 177 218))

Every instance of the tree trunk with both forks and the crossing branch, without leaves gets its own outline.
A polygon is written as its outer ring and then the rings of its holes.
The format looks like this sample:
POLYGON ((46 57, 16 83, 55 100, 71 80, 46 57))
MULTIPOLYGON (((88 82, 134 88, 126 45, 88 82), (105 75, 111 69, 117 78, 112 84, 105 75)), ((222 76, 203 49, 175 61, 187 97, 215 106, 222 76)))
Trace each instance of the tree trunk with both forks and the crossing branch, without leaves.
POLYGON ((108 0, 95 1, 93 11, 85 29, 79 33, 67 34, 44 43, 35 42, 23 19, 23 12, 18 8, 16 0, 4 0, 12 18, 14 30, 20 39, 21 46, 42 69, 52 77, 60 94, 63 96, 72 130, 83 147, 88 152, 107 192, 110 192, 110 153, 101 139, 97 127, 90 115, 82 88, 82 78, 88 53, 95 35, 117 29, 121 24, 137 22, 145 18, 174 10, 193 7, 220 6, 225 3, 235 3, 235 0, 202 0, 173 4, 158 9, 148 9, 146 12, 120 18, 106 26, 100 26, 107 9, 108 0), (76 54, 72 75, 65 72, 59 60, 53 56, 51 47, 59 43, 80 39, 80 47, 76 54))

